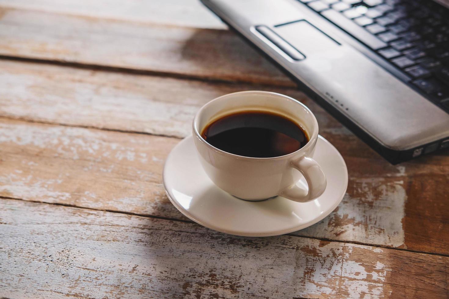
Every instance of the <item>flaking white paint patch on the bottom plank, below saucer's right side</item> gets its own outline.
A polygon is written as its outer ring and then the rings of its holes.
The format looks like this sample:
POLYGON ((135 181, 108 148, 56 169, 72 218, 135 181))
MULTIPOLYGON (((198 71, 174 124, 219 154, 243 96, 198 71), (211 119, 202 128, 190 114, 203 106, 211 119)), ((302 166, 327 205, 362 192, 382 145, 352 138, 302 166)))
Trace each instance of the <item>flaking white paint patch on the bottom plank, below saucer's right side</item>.
POLYGON ((322 246, 319 241, 301 247, 300 251, 317 258, 308 260, 304 254, 297 254, 293 281, 303 285, 293 297, 308 297, 307 290, 317 290, 333 298, 341 296, 344 289, 347 298, 383 298, 391 292, 385 290, 384 283, 392 269, 379 260, 373 262, 374 256, 382 256, 376 249, 353 244, 335 248, 333 243, 322 246))

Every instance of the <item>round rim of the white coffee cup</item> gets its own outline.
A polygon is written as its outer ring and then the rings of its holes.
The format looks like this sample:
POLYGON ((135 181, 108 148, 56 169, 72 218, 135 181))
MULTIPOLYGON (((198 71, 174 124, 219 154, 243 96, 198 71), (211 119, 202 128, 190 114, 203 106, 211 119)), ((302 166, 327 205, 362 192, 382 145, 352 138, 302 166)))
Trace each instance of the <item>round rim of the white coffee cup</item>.
MULTIPOLYGON (((226 94, 226 95, 221 95, 221 96, 219 96, 219 97, 217 97, 217 98, 215 98, 215 99, 213 99, 213 100, 207 102, 206 104, 204 104, 204 105, 198 110, 198 112, 195 114, 195 117, 194 117, 192 126, 193 126, 193 131, 194 131, 194 133, 195 133, 195 136, 196 136, 196 137, 197 137, 203 144, 205 144, 207 147, 211 148, 213 151, 218 152, 218 153, 220 153, 220 154, 222 154, 222 155, 231 156, 231 157, 233 157, 233 158, 235 158, 235 159, 238 159, 238 160, 250 160, 250 161, 257 161, 257 160, 259 160, 259 161, 266 161, 266 160, 283 160, 283 159, 285 159, 285 158, 288 158, 289 156, 296 156, 299 152, 305 152, 305 151, 308 150, 310 147, 312 147, 312 143, 313 143, 312 141, 318 138, 318 121, 317 121, 317 118, 315 117, 315 115, 312 113, 312 111, 311 111, 306 105, 304 105, 303 103, 299 102, 298 100, 296 100, 296 99, 294 99, 294 98, 292 98, 292 97, 290 97, 290 96, 288 96, 288 95, 282 95, 282 94, 280 94, 280 93, 273 92, 273 91, 237 91, 237 92, 228 93, 228 94, 226 94), (220 99, 222 99, 222 98, 224 98, 224 97, 228 97, 228 96, 230 96, 230 95, 243 94, 243 93, 256 93, 256 94, 258 93, 258 94, 275 95, 275 96, 282 97, 282 98, 287 99, 287 100, 293 100, 293 101, 296 102, 297 104, 300 104, 300 105, 302 106, 303 109, 305 109, 308 113, 310 113, 310 114, 312 115, 312 118, 313 118, 313 132, 312 132, 312 134, 311 134, 311 136, 310 136, 308 142, 306 143, 306 145, 304 145, 304 146, 301 147, 300 149, 296 150, 295 152, 291 152, 290 154, 286 154, 286 155, 283 155, 283 156, 267 157, 267 158, 259 158, 259 157, 240 156, 240 155, 236 155, 236 154, 233 154, 233 153, 230 153, 230 152, 223 151, 223 150, 221 150, 221 149, 218 148, 218 147, 214 147, 213 145, 211 145, 210 143, 208 143, 204 138, 202 138, 201 133, 198 131, 198 128, 197 128, 197 126, 196 126, 196 124, 198 123, 199 115, 202 113, 202 111, 203 111, 208 105, 210 105, 211 103, 213 103, 213 102, 215 102, 215 101, 217 101, 217 100, 220 100, 220 99)), ((308 132, 307 132, 307 133, 308 133, 308 132)))

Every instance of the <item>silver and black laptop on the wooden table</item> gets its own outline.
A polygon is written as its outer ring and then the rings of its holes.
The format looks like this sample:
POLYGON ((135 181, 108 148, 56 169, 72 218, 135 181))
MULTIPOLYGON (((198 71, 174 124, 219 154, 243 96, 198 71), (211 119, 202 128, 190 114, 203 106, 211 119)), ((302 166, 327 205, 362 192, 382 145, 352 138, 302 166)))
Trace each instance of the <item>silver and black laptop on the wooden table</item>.
POLYGON ((449 149, 449 0, 202 0, 392 164, 449 149))

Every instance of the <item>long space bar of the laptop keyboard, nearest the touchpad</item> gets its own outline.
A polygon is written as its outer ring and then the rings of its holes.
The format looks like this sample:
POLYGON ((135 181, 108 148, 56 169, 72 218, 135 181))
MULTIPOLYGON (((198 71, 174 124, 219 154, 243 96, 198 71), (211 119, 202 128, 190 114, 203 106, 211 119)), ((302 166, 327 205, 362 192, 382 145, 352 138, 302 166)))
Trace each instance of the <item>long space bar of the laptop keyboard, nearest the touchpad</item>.
POLYGON ((362 43, 365 43, 373 50, 387 47, 387 43, 384 43, 378 39, 375 35, 370 34, 363 27, 358 26, 356 23, 348 20, 343 14, 333 9, 325 10, 321 13, 324 17, 328 18, 335 25, 340 26, 343 30, 348 31, 354 37, 359 39, 362 43))

